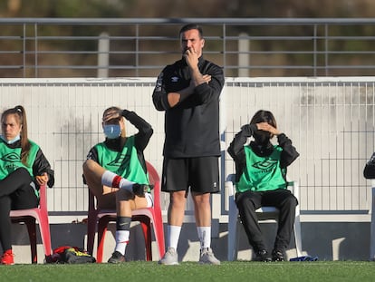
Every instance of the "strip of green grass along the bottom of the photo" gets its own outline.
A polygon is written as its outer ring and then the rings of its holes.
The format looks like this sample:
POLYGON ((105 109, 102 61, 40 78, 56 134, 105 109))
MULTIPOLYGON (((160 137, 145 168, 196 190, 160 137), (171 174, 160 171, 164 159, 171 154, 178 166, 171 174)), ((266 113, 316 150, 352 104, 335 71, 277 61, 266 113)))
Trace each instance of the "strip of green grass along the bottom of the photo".
POLYGON ((183 262, 159 266, 157 262, 133 261, 121 265, 14 265, 0 267, 0 281, 375 281, 375 262, 315 261, 261 263, 222 262, 220 266, 183 262))

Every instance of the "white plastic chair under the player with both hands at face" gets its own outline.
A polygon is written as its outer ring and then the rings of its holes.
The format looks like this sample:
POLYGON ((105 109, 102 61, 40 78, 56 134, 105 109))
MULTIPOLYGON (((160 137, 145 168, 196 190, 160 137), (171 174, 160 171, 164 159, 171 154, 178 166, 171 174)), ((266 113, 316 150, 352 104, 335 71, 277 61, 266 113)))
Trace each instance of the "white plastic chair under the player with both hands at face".
MULTIPOLYGON (((238 245, 238 230, 237 222, 240 220, 238 216, 238 209, 235 201, 235 174, 230 174, 226 178, 226 190, 229 196, 229 217, 228 217, 228 261, 236 260, 237 258, 237 245, 238 245)), ((288 182, 290 190, 293 195, 299 198, 299 187, 295 181, 288 182)), ((261 220, 274 220, 278 219, 278 209, 274 207, 262 207, 256 209, 258 219, 261 220)), ((300 221, 300 206, 295 208, 295 219, 294 219, 294 241, 297 252, 297 257, 302 256, 302 240, 301 240, 301 221, 300 221)))

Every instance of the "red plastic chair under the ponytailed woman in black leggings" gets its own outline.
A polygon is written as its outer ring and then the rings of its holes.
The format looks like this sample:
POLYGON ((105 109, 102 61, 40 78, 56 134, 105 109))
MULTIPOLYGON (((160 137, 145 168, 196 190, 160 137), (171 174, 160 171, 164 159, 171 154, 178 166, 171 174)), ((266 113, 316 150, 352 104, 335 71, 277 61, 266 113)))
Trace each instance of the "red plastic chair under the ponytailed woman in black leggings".
POLYGON ((11 210, 10 212, 10 218, 12 219, 13 223, 23 222, 24 224, 26 224, 30 238, 31 258, 33 264, 38 263, 36 250, 36 221, 38 221, 39 223, 39 229, 41 232, 45 262, 50 262, 52 255, 51 232, 50 223, 48 220, 47 196, 45 186, 41 186, 39 194, 39 207, 34 209, 11 210))

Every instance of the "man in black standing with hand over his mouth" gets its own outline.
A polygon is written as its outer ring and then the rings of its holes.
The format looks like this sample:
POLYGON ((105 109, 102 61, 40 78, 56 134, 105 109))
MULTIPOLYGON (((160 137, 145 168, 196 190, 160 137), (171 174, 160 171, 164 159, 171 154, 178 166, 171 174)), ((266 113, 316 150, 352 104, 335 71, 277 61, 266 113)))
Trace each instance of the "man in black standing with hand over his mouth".
POLYGON ((167 252, 163 265, 178 264, 178 238, 188 190, 194 202, 199 263, 220 264, 211 250, 210 194, 219 191, 219 96, 224 74, 202 57, 202 29, 187 24, 179 31, 182 59, 159 74, 152 99, 165 111, 165 142, 161 190, 168 192, 167 252))

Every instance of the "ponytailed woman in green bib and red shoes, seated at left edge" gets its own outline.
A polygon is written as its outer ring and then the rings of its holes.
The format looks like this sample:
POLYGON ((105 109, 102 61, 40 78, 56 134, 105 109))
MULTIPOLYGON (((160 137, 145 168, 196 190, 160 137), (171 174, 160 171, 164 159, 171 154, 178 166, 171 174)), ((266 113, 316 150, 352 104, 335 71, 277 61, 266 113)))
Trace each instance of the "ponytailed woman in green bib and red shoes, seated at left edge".
POLYGON ((0 244, 2 265, 13 265, 11 209, 33 209, 39 188, 53 187, 50 163, 39 146, 27 138, 26 112, 16 106, 3 112, 0 135, 0 244))

